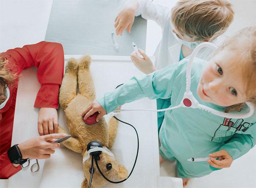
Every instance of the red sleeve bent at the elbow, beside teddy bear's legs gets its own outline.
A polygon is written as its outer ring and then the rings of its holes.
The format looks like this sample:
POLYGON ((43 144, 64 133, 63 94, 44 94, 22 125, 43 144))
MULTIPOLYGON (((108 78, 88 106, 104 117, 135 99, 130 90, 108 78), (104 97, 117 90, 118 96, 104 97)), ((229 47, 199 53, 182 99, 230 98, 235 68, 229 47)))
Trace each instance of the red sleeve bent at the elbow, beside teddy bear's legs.
POLYGON ((64 74, 64 52, 60 43, 42 41, 22 48, 10 49, 20 71, 35 66, 41 84, 34 107, 58 108, 59 87, 64 74))

